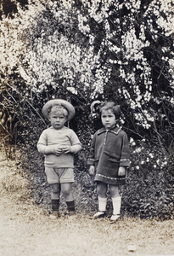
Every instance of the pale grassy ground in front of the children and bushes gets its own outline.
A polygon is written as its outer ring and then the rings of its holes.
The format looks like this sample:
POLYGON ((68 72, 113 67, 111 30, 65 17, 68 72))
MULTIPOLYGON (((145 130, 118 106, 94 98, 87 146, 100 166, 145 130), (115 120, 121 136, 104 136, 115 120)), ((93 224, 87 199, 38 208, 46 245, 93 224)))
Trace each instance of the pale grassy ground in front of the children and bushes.
POLYGON ((14 161, 0 158, 0 256, 174 255, 173 220, 124 217, 113 224, 80 213, 53 220, 24 200, 22 189, 5 187, 14 171, 14 161))

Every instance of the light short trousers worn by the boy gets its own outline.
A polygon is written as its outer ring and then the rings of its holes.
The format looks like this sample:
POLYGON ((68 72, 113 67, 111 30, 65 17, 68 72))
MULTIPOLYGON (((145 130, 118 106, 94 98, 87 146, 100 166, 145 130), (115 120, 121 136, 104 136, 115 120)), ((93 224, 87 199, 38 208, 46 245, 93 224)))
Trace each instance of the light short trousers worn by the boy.
POLYGON ((47 174, 48 184, 53 183, 74 183, 74 170, 73 168, 53 168, 45 167, 47 174))

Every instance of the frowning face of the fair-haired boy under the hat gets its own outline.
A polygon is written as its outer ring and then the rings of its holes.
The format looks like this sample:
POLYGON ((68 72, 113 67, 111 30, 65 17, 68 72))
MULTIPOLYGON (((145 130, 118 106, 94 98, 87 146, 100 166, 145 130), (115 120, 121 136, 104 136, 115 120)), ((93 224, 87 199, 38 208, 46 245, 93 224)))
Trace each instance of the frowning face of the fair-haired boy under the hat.
POLYGON ((59 111, 51 112, 49 114, 49 120, 54 129, 59 130, 64 127, 67 118, 64 113, 60 113, 59 111))

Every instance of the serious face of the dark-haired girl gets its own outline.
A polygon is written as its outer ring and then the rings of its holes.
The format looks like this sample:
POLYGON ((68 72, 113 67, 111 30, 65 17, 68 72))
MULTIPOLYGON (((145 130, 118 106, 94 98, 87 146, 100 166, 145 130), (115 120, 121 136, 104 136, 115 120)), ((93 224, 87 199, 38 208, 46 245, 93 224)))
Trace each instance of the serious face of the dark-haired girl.
POLYGON ((109 129, 116 124, 115 114, 111 111, 111 109, 102 110, 101 119, 102 124, 106 129, 109 129))

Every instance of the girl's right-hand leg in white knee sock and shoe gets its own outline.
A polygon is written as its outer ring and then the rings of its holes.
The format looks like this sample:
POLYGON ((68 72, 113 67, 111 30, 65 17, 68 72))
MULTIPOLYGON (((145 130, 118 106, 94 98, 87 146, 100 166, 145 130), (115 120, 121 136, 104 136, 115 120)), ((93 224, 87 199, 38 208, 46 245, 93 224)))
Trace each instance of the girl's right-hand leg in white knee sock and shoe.
POLYGON ((120 218, 121 212, 121 196, 119 194, 119 188, 115 185, 110 185, 110 195, 113 203, 113 215, 110 218, 111 220, 116 220, 120 218))

